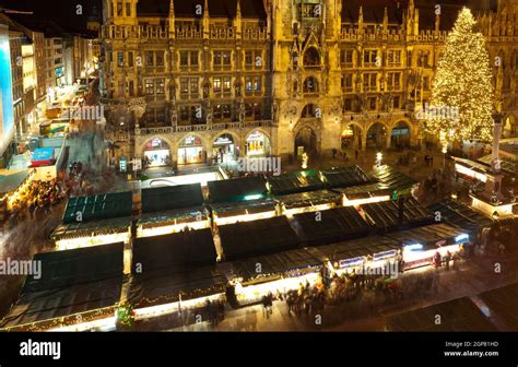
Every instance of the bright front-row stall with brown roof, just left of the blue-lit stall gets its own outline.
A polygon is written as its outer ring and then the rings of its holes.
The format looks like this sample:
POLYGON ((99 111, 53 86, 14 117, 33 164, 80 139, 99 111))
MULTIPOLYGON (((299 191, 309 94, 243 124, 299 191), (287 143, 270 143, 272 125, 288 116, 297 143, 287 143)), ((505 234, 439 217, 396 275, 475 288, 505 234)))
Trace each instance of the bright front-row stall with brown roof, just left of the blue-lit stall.
POLYGON ((339 275, 342 273, 366 274, 370 271, 381 273, 398 272, 400 256, 399 242, 382 236, 368 236, 364 238, 319 246, 318 251, 325 254, 326 263, 330 270, 339 275), (390 267, 390 268, 389 268, 390 267))

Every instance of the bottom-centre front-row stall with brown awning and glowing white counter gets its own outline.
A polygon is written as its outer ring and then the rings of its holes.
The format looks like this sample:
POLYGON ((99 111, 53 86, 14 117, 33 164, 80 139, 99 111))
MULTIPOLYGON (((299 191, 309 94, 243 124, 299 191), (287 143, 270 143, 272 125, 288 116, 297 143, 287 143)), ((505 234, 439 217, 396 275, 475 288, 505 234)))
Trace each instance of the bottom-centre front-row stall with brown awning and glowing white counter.
POLYGON ((260 301, 269 292, 285 294, 297 289, 301 283, 314 285, 323 267, 323 257, 315 248, 305 248, 235 260, 229 264, 232 271, 226 276, 235 286, 237 301, 246 306, 260 301))

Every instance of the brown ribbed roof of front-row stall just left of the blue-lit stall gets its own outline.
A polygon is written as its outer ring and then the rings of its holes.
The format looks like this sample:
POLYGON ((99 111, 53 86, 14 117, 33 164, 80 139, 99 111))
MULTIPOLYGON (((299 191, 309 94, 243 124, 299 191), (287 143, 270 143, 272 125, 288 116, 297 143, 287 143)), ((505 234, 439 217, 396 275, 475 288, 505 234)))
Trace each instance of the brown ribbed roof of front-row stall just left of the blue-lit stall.
POLYGON ((389 250, 397 250, 400 245, 397 240, 382 236, 368 236, 332 245, 319 246, 318 251, 331 262, 353 259, 356 257, 373 256, 389 250))

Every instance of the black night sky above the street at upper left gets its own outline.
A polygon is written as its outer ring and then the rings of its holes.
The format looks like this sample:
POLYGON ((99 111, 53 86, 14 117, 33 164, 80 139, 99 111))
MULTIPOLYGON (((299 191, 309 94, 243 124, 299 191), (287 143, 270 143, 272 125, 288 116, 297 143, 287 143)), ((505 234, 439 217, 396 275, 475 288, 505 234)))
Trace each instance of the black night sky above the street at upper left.
MULTIPOLYGON (((37 20, 57 22, 67 29, 86 29, 86 20, 95 4, 101 12, 102 0, 0 0, 0 8, 33 11, 34 15, 23 15, 37 20), (75 7, 83 5, 83 15, 75 14, 75 7)), ((22 16, 22 15, 16 15, 22 16)))

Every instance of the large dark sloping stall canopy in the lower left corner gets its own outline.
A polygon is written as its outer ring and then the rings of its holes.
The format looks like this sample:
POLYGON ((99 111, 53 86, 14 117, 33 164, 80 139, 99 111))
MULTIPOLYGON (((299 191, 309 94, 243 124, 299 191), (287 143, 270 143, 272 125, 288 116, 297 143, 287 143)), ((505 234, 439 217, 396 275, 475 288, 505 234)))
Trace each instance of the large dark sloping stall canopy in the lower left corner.
POLYGON ((114 306, 120 299, 122 250, 123 244, 113 244, 36 254, 40 277, 27 277, 2 328, 114 306))

